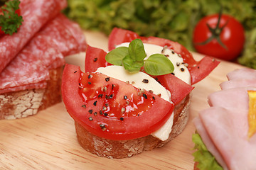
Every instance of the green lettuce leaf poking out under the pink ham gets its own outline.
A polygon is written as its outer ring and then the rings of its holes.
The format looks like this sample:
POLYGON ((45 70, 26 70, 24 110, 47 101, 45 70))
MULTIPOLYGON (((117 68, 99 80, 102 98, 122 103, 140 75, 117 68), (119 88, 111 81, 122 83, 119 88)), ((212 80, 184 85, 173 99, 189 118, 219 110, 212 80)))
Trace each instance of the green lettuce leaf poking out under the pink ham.
POLYGON ((193 153, 194 162, 198 162, 198 169, 200 170, 223 170, 218 164, 215 157, 208 151, 206 145, 198 133, 193 134, 192 141, 195 143, 196 152, 193 153))

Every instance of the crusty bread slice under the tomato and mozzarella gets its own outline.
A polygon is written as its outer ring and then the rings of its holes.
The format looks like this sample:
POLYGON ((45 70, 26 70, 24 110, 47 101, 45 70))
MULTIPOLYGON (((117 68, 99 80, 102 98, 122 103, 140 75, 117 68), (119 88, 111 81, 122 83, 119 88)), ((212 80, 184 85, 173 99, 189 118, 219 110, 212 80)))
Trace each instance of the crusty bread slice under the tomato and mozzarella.
POLYGON ((125 158, 132 157, 146 150, 151 150, 157 147, 163 147, 171 140, 174 140, 188 122, 188 107, 190 105, 191 95, 179 103, 174 109, 174 125, 172 127, 169 139, 161 141, 152 135, 140 137, 134 140, 108 140, 102 137, 97 137, 91 132, 88 132, 82 125, 75 121, 75 130, 80 145, 100 157, 107 158, 125 158))

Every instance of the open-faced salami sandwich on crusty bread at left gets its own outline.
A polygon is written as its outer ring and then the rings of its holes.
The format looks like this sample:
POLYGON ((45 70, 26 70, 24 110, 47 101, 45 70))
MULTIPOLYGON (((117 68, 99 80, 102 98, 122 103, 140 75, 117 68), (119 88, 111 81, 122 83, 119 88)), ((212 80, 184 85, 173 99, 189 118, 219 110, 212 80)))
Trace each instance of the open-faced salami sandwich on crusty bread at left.
POLYGON ((60 13, 65 6, 65 0, 6 2, 6 17, 17 14, 22 24, 0 35, 0 120, 25 118, 61 102, 64 57, 86 48, 78 24, 60 13), (12 6, 18 10, 13 15, 12 6))

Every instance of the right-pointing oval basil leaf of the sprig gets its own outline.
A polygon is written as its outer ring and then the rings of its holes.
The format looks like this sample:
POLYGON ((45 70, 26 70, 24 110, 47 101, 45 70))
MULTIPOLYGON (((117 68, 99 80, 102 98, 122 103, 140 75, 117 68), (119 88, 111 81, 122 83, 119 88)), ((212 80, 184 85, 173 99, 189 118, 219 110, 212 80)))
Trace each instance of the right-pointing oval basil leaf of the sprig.
POLYGON ((166 56, 154 54, 145 60, 144 69, 147 74, 159 76, 174 72, 174 64, 166 56))

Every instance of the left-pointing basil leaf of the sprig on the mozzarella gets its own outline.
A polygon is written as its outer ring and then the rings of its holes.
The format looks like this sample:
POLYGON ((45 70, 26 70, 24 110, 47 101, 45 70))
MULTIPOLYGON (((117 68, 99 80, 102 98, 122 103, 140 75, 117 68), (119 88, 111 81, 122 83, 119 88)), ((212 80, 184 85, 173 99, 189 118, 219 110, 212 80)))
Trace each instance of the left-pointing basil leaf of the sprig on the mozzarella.
POLYGON ((128 55, 128 47, 117 47, 107 53, 105 59, 110 64, 122 66, 122 60, 128 55))

